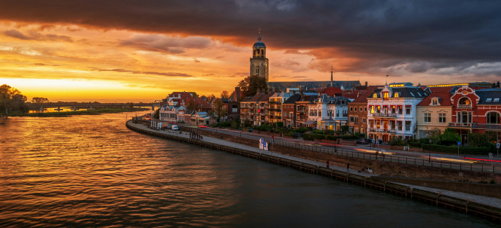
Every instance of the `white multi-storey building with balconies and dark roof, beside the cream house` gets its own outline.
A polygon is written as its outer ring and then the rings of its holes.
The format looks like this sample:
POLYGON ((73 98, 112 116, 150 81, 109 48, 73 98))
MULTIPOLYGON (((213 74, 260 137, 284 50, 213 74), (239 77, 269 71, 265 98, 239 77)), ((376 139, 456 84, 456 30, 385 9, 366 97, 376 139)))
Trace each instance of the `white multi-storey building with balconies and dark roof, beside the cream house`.
POLYGON ((416 105, 429 95, 413 83, 391 83, 367 98, 368 138, 389 142, 390 138, 416 137, 416 105))

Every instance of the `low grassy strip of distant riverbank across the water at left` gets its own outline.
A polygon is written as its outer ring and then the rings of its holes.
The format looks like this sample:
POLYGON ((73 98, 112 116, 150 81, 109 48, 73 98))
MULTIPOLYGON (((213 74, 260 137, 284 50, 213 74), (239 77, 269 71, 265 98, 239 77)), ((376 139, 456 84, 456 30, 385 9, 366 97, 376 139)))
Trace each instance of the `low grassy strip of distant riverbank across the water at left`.
POLYGON ((67 117, 73 115, 100 115, 103 113, 138 112, 150 110, 148 108, 126 108, 126 109, 94 109, 74 112, 40 112, 40 113, 14 113, 8 116, 31 116, 31 117, 67 117))

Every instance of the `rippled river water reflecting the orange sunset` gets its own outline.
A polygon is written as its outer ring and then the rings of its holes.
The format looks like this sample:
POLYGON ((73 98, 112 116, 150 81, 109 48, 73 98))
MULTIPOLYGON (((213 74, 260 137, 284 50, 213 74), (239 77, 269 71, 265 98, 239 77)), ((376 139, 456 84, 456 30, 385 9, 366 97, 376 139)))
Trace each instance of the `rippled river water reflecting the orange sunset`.
POLYGON ((0 227, 499 227, 359 185, 141 135, 126 114, 0 125, 0 227))

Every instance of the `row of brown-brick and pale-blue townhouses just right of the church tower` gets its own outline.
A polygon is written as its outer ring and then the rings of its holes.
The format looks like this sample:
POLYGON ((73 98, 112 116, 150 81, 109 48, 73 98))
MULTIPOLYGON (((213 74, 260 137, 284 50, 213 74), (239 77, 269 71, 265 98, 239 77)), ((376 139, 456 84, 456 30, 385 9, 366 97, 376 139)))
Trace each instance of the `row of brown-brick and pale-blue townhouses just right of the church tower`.
POLYGON ((253 97, 246 97, 240 102, 240 120, 250 121, 255 126, 263 123, 282 122, 286 127, 311 127, 316 129, 339 129, 347 124, 348 103, 344 97, 323 95, 319 97, 316 90, 288 88, 284 92, 265 93, 258 90, 253 97), (298 93, 296 93, 298 92, 298 93))

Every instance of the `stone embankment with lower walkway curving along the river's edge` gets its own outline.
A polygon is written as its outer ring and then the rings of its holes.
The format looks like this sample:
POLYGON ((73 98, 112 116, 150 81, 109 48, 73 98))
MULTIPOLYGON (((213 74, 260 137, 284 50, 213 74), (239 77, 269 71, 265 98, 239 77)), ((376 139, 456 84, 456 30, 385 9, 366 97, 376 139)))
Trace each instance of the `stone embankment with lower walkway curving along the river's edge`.
MULTIPOLYGON (((253 147, 252 144, 257 142, 248 142, 249 145, 242 145, 236 142, 232 142, 232 138, 233 140, 236 139, 236 137, 232 135, 225 135, 226 137, 222 139, 223 135, 216 135, 214 133, 214 135, 211 136, 215 137, 208 137, 206 135, 203 140, 193 140, 189 138, 189 129, 181 130, 182 134, 180 134, 179 132, 173 132, 171 130, 152 130, 147 128, 143 124, 134 124, 132 123, 132 121, 128 121, 126 123, 126 126, 127 128, 135 130, 139 133, 145 133, 147 135, 176 140, 179 142, 186 142, 192 145, 199 145, 201 147, 217 149, 223 152, 247 156, 249 158, 258 159, 260 161, 268 161, 290 168, 297 168, 309 173, 324 175, 326 177, 331 177, 346 182, 352 182, 363 187, 378 189, 382 192, 401 195, 409 199, 424 201, 436 206, 443 206, 446 208, 459 210, 463 213, 479 215, 490 220, 501 222, 500 199, 457 192, 453 192, 455 194, 454 195, 448 194, 448 191, 441 191, 440 189, 424 190, 413 185, 401 185, 396 182, 376 180, 371 177, 372 175, 369 175, 367 173, 348 173, 342 171, 346 170, 345 168, 335 166, 326 168, 326 164, 323 162, 302 159, 295 156, 288 156, 286 154, 279 154, 276 152, 265 152, 253 147), (444 193, 437 193, 437 191, 444 193)), ((353 166, 350 165, 350 167, 353 166)))

